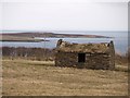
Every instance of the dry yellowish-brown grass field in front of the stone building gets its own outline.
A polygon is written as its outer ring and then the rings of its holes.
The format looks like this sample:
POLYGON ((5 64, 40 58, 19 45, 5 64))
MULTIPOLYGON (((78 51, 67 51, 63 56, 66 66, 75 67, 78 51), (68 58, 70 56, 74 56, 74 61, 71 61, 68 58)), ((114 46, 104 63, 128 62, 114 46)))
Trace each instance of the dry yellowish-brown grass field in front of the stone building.
POLYGON ((2 60, 3 95, 126 96, 127 66, 116 71, 54 66, 53 61, 2 60))

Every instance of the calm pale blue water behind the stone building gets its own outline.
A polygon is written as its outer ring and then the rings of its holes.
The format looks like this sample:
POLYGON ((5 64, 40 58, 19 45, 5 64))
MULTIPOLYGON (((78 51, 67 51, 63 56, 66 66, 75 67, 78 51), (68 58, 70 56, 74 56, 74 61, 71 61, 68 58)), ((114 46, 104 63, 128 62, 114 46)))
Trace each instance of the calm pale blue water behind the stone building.
MULTIPOLYGON (((90 33, 86 33, 90 34, 90 33)), ((103 35, 103 36, 109 36, 115 38, 62 38, 65 41, 70 42, 78 42, 78 44, 87 44, 87 42, 109 42, 110 40, 114 40, 116 52, 125 54, 128 50, 128 33, 127 32, 119 32, 119 33, 93 33, 92 35, 103 35)), ((43 39, 43 38, 40 38, 43 39)), ((2 46, 8 47, 38 47, 38 48, 55 48, 56 42, 61 38, 46 38, 50 41, 41 41, 41 42, 9 42, 4 41, 2 42, 2 46)))

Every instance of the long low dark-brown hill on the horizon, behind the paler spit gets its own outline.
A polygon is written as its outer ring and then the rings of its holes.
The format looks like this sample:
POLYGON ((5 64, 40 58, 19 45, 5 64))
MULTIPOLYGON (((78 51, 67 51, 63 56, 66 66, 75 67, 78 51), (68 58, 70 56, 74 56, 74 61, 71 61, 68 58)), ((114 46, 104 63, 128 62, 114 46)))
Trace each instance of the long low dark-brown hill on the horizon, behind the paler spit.
POLYGON ((2 36, 15 36, 15 37, 55 37, 55 38, 109 38, 101 35, 81 35, 81 34, 55 34, 55 33, 14 33, 14 34, 2 34, 2 36))

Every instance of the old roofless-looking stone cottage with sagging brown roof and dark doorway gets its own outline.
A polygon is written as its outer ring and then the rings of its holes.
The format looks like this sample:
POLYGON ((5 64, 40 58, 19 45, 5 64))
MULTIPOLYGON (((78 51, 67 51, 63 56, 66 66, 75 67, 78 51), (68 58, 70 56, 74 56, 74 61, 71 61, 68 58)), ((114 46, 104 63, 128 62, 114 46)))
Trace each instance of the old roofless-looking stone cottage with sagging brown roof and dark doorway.
POLYGON ((114 42, 70 44, 60 39, 56 45, 55 65, 114 70, 114 42))

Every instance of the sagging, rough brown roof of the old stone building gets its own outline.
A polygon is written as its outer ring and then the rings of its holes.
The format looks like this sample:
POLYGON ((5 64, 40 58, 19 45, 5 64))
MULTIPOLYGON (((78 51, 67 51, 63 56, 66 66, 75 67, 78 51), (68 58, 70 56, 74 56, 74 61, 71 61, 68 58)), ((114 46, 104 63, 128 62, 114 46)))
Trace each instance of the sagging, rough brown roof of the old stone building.
POLYGON ((70 44, 67 41, 57 41, 56 50, 63 51, 63 52, 108 53, 109 52, 109 42, 70 44))

